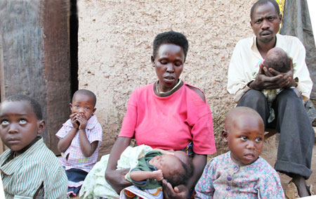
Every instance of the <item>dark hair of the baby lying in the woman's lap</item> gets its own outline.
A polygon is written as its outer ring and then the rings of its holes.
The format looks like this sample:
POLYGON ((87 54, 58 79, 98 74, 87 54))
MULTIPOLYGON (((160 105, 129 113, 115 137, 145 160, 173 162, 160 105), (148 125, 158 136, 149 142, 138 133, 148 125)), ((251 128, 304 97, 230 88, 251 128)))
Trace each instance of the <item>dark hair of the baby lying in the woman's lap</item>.
POLYGON ((166 181, 168 181, 173 187, 180 184, 187 184, 187 181, 193 175, 194 165, 192 160, 190 160, 190 158, 187 158, 186 162, 182 162, 181 160, 180 162, 183 167, 183 174, 175 169, 173 170, 173 172, 170 173, 170 176, 164 176, 164 179, 166 179, 166 181))

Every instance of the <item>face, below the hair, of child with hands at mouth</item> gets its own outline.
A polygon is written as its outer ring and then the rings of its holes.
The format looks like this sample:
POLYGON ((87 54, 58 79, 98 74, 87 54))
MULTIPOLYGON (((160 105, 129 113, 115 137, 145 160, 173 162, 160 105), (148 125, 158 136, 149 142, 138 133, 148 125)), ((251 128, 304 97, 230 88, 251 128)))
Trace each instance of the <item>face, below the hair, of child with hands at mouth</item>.
POLYGON ((96 111, 93 105, 93 98, 84 94, 76 94, 74 100, 70 103, 72 113, 84 115, 88 120, 91 115, 96 111))

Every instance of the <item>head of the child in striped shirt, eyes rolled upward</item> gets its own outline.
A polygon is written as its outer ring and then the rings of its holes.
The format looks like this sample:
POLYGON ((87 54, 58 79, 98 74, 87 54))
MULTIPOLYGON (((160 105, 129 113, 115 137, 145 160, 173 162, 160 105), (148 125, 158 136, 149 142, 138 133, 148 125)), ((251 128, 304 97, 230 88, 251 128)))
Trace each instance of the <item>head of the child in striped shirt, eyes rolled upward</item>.
POLYGON ((0 106, 0 136, 8 148, 23 153, 45 129, 41 106, 29 96, 6 98, 0 106))

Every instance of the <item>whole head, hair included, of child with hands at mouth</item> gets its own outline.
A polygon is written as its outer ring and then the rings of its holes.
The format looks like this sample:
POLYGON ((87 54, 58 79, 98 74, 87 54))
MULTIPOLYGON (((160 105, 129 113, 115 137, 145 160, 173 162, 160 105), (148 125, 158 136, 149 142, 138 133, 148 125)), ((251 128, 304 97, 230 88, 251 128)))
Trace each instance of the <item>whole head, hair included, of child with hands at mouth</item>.
POLYGON ((70 109, 72 113, 84 115, 88 120, 96 111, 96 95, 92 91, 80 89, 72 96, 72 103, 70 109))

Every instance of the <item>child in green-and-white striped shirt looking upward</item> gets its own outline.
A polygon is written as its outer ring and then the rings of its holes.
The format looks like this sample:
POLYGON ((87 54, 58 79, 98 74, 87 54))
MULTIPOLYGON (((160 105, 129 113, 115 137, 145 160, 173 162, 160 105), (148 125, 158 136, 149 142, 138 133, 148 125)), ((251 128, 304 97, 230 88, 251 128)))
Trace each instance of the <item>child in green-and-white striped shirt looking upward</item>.
POLYGON ((66 198, 67 176, 41 136, 41 106, 29 96, 10 96, 0 106, 0 136, 9 148, 0 155, 7 199, 66 198))

